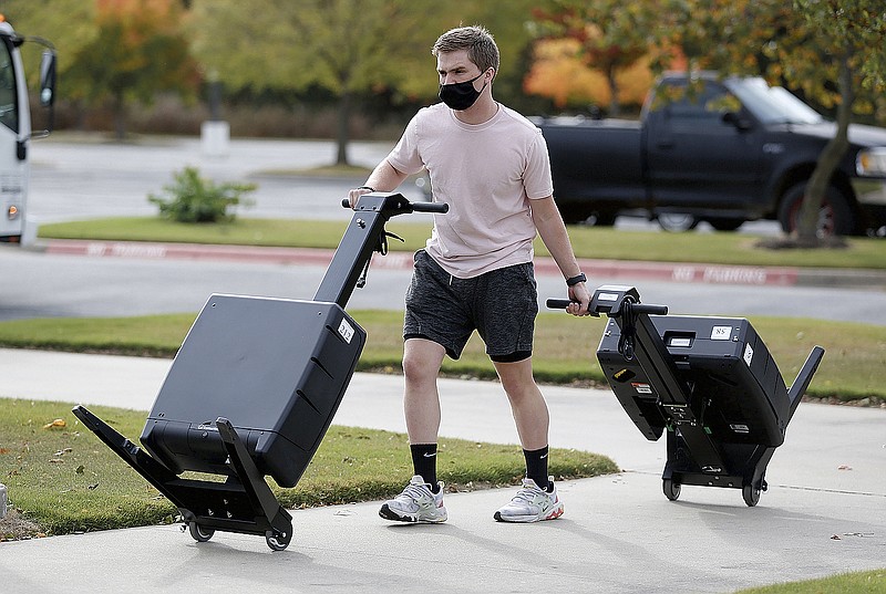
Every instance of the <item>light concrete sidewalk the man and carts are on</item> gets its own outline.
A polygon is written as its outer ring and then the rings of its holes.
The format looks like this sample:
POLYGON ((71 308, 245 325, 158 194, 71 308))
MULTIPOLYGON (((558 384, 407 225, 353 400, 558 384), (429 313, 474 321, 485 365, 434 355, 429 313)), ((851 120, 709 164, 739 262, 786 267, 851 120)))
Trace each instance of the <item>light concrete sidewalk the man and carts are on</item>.
MULTIPOLYGON (((0 396, 142 410, 169 366, 10 350, 0 358, 0 396)), ((513 492, 490 490, 446 496, 450 521, 433 527, 391 525, 377 502, 298 510, 279 553, 233 533, 197 544, 178 527, 56 536, 0 544, 2 583, 17 593, 682 593, 886 567, 886 411, 802 404, 769 466, 769 491, 748 508, 738 489, 683 487, 668 501, 663 440, 643 439, 611 393, 544 390, 553 446, 604 454, 625 469, 560 483, 559 520, 497 523, 492 512, 513 492)), ((401 393, 399 376, 357 374, 336 424, 402 431, 401 393)), ((441 394, 442 435, 516 444, 496 384, 446 379, 441 394)))

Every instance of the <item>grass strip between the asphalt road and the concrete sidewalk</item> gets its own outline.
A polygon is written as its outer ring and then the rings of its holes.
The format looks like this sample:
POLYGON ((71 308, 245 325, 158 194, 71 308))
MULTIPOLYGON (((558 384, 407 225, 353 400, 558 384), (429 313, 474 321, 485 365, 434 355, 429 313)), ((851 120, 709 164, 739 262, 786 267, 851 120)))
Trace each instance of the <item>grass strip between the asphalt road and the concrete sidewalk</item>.
MULTIPOLYGON (((353 311, 369 334, 358 369, 399 372, 402 313, 353 311)), ((196 314, 121 319, 38 319, 0 322, 0 346, 74 352, 103 352, 172 357, 196 314)), ((752 317, 790 384, 816 344, 826 350, 808 394, 842 400, 886 400, 886 334, 882 326, 807 319, 752 317)), ((606 320, 576 319, 559 312, 539 314, 533 364, 539 382, 602 383, 596 350, 606 320)), ((492 379, 495 369, 473 336, 460 361, 445 359, 447 375, 492 379)))

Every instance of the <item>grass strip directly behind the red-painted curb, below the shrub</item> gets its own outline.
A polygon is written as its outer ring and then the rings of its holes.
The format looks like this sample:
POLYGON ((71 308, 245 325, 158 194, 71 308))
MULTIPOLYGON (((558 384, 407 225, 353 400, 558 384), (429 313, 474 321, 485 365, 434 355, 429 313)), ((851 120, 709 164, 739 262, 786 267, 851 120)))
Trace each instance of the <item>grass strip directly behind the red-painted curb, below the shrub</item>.
MULTIPOLYGON (((348 221, 305 221, 240 217, 231 223, 187 225, 159 218, 111 218, 42 225, 41 238, 126 241, 172 241, 336 248, 348 221)), ((393 219, 388 229, 405 239, 391 241, 392 250, 414 251, 424 246, 430 222, 393 219)), ((713 264, 859 268, 886 270, 886 249, 882 239, 851 238, 845 249, 770 250, 756 247, 760 238, 742 233, 664 233, 606 228, 569 227, 579 258, 604 260, 646 260, 713 264)), ((536 253, 546 256, 540 240, 536 253)), ((594 271, 589 271, 591 274, 594 271)))

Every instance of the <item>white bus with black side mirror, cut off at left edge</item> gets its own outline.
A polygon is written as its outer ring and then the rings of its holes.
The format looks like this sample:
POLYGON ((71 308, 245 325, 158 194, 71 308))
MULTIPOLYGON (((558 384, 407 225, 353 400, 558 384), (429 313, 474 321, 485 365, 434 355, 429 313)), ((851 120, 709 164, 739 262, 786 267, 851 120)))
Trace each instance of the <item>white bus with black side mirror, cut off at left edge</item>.
POLYGON ((0 15, 0 241, 19 242, 24 230, 28 197, 28 145, 48 136, 55 101, 55 51, 40 38, 21 37, 0 15), (40 104, 47 108, 47 129, 32 133, 31 110, 19 48, 43 45, 40 63, 40 104))

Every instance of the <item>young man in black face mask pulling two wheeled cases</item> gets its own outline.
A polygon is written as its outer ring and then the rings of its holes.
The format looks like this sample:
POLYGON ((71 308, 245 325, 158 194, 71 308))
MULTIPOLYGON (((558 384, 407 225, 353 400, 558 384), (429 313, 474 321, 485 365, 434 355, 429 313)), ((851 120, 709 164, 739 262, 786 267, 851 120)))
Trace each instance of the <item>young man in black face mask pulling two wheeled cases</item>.
POLYGON ((563 513, 547 473, 548 410, 535 384, 532 345, 538 313, 532 242, 536 232, 557 262, 567 311, 586 315, 590 295, 566 227, 554 204, 547 146, 540 131, 492 96, 498 48, 480 27, 453 29, 432 49, 440 98, 422 108, 351 206, 368 191, 392 191, 427 170, 434 200, 450 205, 434 217, 426 247, 415 254, 403 324, 404 413, 415 476, 380 515, 443 522, 443 483, 436 480, 443 357, 459 358, 474 330, 486 344, 511 403, 526 478, 494 513, 503 522, 552 520, 563 513))

